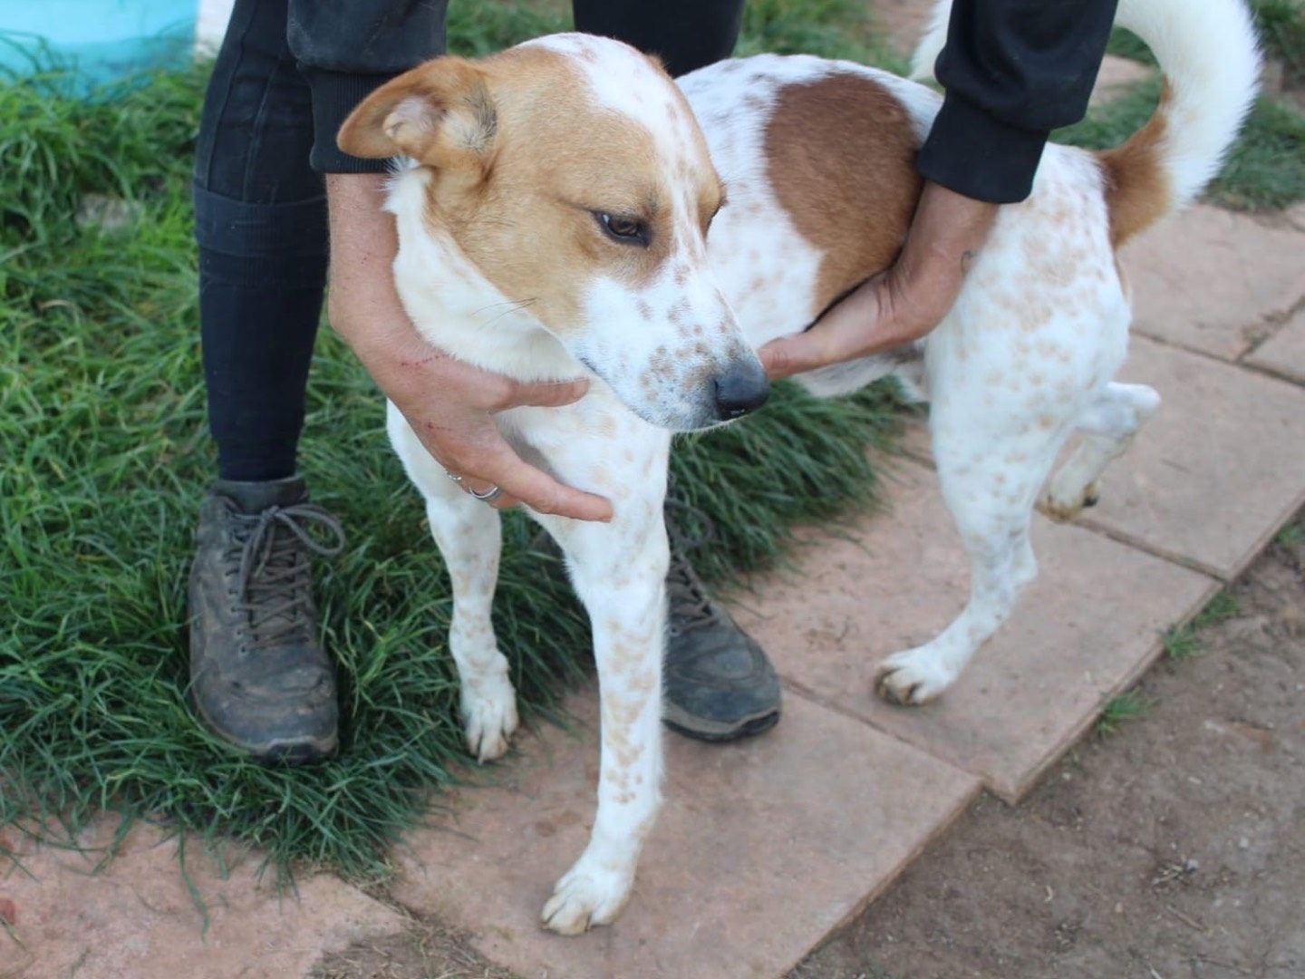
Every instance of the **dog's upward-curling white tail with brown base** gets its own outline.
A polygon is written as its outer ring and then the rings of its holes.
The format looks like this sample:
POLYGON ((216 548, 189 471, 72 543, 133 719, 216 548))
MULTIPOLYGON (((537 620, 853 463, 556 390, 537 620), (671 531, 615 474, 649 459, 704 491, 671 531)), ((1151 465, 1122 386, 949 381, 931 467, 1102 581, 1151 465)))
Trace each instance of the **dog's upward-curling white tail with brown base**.
MULTIPOLYGON (((912 77, 932 74, 950 9, 951 0, 934 8, 912 77)), ((1255 99, 1259 44, 1245 0, 1120 0, 1116 22, 1146 42, 1165 78, 1146 125, 1098 154, 1118 247, 1189 204, 1219 172, 1255 99)))

